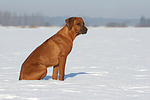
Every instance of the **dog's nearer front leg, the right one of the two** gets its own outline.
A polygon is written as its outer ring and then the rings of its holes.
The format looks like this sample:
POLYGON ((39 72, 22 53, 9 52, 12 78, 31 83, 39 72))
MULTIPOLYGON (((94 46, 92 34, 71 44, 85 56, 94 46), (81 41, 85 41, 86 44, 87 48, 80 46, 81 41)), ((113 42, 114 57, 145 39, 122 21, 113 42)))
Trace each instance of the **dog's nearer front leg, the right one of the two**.
POLYGON ((59 57, 59 80, 64 81, 66 56, 59 57))

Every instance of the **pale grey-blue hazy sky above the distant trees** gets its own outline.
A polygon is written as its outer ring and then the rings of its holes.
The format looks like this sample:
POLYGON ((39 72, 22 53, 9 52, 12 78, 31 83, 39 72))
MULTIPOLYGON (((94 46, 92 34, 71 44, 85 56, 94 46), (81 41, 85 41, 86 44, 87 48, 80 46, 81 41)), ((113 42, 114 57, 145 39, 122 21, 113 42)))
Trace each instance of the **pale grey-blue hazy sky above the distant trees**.
POLYGON ((150 0, 0 0, 0 10, 50 17, 150 18, 150 0))

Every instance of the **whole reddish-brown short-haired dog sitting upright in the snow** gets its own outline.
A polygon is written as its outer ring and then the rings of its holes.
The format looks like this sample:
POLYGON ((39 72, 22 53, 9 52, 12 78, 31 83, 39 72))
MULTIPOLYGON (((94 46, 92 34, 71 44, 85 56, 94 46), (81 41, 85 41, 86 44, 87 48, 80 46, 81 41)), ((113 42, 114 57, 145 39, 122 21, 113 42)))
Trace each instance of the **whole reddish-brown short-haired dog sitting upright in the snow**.
POLYGON ((87 28, 80 17, 65 20, 66 25, 51 38, 37 47, 24 61, 19 80, 40 80, 47 74, 47 68, 53 67, 52 78, 64 80, 65 63, 70 53, 73 40, 80 34, 86 34, 87 28))

